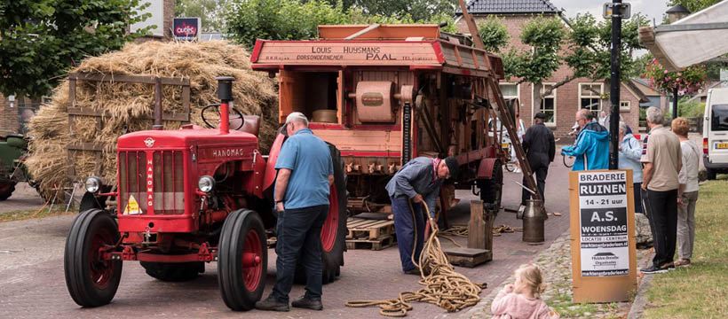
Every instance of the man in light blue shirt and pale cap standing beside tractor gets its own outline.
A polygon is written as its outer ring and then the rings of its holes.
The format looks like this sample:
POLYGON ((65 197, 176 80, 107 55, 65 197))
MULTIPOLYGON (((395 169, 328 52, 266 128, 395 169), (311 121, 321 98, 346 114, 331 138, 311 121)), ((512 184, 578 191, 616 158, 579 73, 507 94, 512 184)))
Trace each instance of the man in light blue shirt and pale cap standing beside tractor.
POLYGON ((328 190, 334 183, 334 164, 328 145, 313 135, 302 113, 286 118, 289 138, 281 147, 275 168, 277 243, 276 281, 266 300, 256 303, 261 310, 289 311, 289 292, 297 261, 305 268, 305 296, 293 307, 321 310, 321 227, 328 214, 328 190))

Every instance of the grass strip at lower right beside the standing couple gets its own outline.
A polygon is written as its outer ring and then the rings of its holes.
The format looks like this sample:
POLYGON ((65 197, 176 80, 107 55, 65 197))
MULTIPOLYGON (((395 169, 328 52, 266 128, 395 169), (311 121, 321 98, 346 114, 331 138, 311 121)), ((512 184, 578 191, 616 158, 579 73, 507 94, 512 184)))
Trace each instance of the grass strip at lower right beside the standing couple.
POLYGON ((645 318, 728 318, 726 203, 728 180, 700 186, 692 265, 653 277, 645 318))

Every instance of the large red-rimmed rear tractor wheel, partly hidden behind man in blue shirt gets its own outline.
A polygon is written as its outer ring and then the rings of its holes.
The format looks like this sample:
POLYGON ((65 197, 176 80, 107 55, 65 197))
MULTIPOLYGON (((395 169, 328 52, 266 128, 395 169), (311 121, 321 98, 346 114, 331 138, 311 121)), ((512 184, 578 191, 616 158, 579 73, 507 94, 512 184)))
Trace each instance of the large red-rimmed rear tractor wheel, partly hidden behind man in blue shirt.
MULTIPOLYGON (((321 283, 328 284, 341 275, 341 266, 344 266, 344 251, 346 250, 346 218, 349 212, 346 209, 346 175, 344 174, 344 161, 341 152, 333 144, 328 144, 331 160, 334 164, 334 184, 329 188, 328 214, 321 228, 321 283)), ((297 263, 294 281, 305 284, 305 269, 300 261, 297 263)))

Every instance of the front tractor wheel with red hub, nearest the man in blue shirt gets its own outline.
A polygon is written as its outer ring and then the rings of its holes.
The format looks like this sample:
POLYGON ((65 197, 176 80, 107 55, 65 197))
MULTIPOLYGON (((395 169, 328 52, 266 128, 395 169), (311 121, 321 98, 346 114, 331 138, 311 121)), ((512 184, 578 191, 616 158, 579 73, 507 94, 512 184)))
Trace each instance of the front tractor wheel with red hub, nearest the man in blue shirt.
POLYGON ((218 250, 218 285, 227 307, 249 310, 263 296, 267 248, 256 212, 239 209, 227 216, 218 250))

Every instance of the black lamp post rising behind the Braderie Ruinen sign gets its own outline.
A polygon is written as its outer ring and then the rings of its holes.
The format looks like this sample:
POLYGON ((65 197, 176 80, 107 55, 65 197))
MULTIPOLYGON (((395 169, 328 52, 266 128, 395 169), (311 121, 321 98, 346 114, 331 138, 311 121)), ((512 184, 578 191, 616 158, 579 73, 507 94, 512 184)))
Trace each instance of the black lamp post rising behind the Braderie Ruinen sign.
POLYGON ((621 49, 621 0, 613 0, 612 13, 612 72, 609 99, 612 111, 609 113, 609 169, 619 166, 620 129, 620 49, 621 49))

